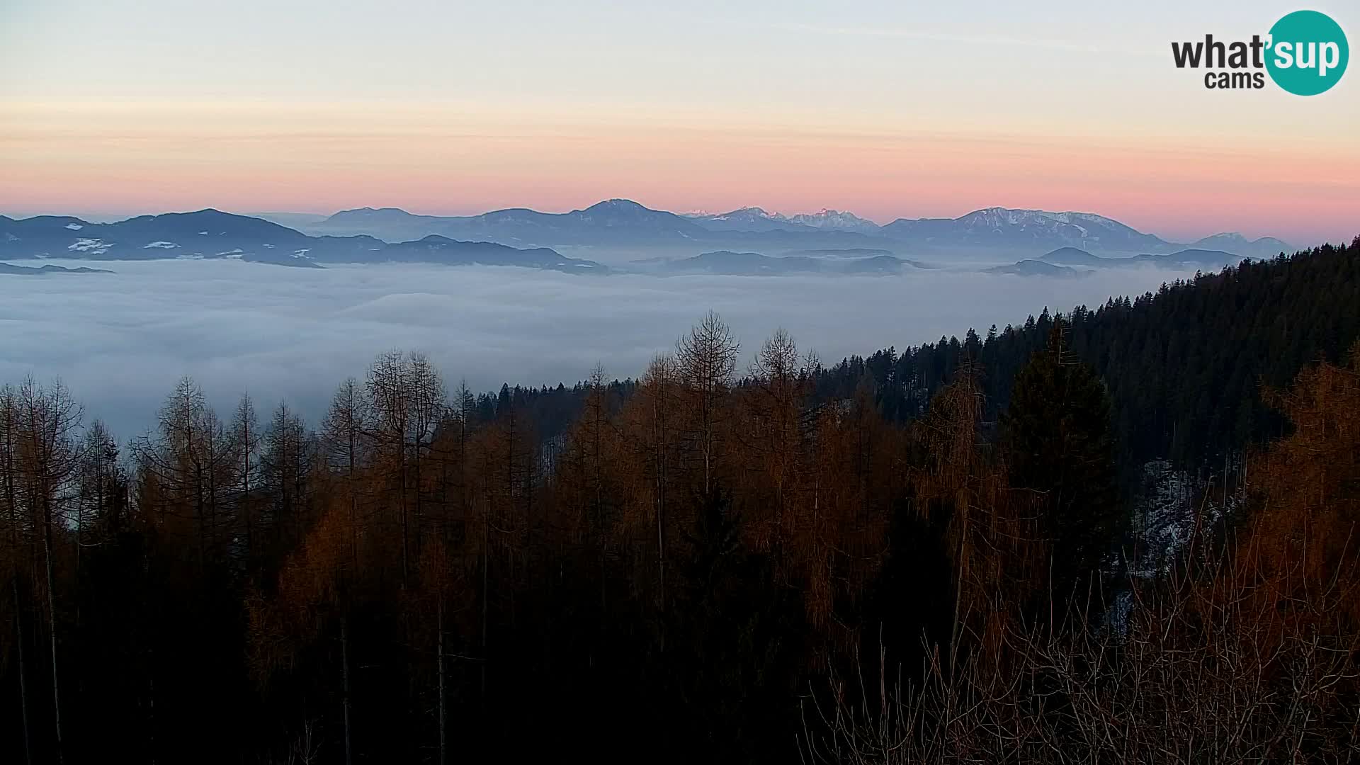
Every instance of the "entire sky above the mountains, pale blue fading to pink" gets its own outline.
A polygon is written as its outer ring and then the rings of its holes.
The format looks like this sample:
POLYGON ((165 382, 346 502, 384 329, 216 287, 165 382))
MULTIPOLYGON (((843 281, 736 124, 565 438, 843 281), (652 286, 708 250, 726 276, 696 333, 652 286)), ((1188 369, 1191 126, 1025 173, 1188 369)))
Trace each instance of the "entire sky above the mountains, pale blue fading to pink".
MULTIPOLYGON (((1360 35, 1360 7, 1311 5, 1360 35)), ((1360 229, 1360 72, 1210 91, 1297 5, 0 0, 0 211, 1077 210, 1360 229)))

